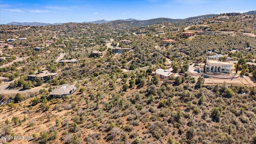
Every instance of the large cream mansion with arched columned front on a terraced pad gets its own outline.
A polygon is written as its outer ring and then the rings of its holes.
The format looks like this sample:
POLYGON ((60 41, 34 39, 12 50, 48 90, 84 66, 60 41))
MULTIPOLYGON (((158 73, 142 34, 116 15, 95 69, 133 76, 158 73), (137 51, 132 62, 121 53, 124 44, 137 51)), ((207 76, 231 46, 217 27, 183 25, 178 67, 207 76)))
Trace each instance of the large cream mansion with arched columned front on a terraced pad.
MULTIPOLYGON (((201 66, 196 66, 196 70, 204 72, 204 64, 201 64, 201 66)), ((220 62, 218 60, 206 60, 205 71, 214 72, 214 73, 231 74, 233 72, 233 67, 230 62, 220 62)))

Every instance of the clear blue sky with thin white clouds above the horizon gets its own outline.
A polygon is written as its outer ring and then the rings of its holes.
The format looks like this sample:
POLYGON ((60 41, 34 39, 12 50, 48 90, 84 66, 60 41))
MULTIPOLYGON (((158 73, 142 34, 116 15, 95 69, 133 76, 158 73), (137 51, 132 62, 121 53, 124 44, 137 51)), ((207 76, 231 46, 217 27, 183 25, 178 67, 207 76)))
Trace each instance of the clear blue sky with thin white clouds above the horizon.
POLYGON ((256 10, 256 0, 0 0, 0 24, 188 18, 256 10))

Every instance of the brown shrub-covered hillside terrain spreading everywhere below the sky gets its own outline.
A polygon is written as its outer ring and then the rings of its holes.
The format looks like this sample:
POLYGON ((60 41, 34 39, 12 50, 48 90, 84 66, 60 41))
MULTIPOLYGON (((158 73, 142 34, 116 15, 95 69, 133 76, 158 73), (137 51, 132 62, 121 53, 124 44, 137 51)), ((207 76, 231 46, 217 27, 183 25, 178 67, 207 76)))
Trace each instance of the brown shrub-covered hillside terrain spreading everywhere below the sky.
POLYGON ((255 16, 0 25, 0 143, 255 143, 255 16), (231 74, 194 71, 215 54, 231 74))

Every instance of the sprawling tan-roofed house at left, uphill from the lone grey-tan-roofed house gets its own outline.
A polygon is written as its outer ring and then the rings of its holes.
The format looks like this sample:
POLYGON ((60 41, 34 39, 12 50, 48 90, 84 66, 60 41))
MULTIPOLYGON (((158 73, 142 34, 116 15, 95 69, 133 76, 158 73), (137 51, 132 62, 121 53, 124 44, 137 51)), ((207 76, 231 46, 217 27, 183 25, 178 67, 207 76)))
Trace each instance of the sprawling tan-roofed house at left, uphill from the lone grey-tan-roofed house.
POLYGON ((49 72, 48 70, 44 70, 42 72, 38 72, 36 74, 30 74, 28 75, 28 80, 35 80, 36 78, 40 78, 43 82, 50 77, 51 79, 54 79, 58 73, 49 72))

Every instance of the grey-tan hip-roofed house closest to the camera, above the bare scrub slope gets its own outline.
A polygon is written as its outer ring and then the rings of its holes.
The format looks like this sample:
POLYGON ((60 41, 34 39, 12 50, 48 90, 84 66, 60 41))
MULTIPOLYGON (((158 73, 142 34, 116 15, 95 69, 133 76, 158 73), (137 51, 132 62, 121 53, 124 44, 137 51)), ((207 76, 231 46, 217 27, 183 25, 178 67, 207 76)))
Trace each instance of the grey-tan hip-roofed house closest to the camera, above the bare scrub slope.
POLYGON ((60 88, 55 88, 50 92, 49 98, 63 98, 63 96, 70 96, 77 90, 74 85, 62 86, 60 88))

